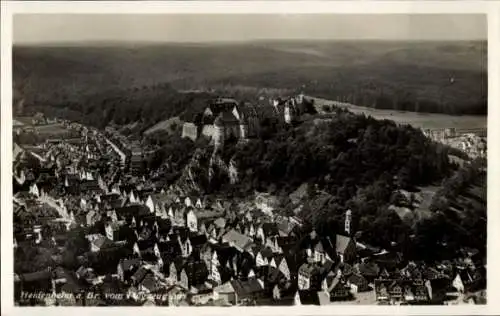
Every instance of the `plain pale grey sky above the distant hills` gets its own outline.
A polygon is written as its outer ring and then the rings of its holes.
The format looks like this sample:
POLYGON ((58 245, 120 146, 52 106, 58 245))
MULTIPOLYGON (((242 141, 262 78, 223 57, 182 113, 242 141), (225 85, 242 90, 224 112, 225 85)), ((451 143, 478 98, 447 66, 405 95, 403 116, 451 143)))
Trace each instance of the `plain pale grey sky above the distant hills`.
POLYGON ((18 14, 15 44, 310 40, 486 40, 485 15, 18 14))

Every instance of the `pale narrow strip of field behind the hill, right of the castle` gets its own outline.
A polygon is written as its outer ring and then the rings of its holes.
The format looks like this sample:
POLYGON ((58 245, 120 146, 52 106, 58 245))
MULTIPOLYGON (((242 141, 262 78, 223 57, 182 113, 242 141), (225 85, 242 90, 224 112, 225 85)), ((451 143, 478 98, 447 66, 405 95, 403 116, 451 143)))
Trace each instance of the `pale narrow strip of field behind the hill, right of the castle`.
POLYGON ((409 124, 417 128, 456 128, 460 129, 486 129, 488 120, 483 115, 447 115, 438 113, 416 113, 408 111, 394 111, 384 109, 373 109, 348 103, 339 103, 331 100, 313 98, 321 109, 323 105, 332 105, 346 108, 357 114, 365 114, 379 120, 392 120, 399 124, 409 124))

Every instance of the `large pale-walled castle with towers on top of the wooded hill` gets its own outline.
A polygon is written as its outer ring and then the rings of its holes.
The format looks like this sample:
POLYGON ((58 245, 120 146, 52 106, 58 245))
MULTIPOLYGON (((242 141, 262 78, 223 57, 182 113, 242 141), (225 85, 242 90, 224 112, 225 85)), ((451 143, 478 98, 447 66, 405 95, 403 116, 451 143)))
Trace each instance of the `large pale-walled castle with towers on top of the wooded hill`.
POLYGON ((302 94, 260 104, 217 98, 201 113, 201 119, 184 123, 182 137, 193 141, 202 136, 208 137, 215 147, 221 147, 228 139, 258 137, 263 124, 293 124, 302 114, 311 111, 309 105, 302 94))

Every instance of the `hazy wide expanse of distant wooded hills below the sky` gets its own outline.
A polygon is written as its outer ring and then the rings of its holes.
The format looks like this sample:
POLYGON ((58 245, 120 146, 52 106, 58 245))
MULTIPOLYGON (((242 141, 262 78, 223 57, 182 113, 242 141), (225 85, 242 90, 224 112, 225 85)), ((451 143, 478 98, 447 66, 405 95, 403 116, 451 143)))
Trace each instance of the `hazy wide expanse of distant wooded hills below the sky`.
POLYGON ((174 88, 301 89, 378 108, 484 114, 486 42, 258 41, 15 46, 26 102, 170 83, 174 88))

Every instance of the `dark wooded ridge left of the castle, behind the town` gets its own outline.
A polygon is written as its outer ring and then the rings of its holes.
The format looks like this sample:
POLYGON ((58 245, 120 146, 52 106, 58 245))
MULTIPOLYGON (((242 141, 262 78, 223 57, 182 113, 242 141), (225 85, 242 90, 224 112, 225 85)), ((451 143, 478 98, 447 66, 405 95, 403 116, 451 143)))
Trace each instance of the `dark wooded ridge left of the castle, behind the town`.
POLYGON ((25 114, 42 112, 48 117, 75 120, 85 125, 104 128, 110 124, 134 124, 135 134, 166 118, 190 119, 202 111, 213 95, 180 93, 169 84, 156 84, 130 89, 113 89, 86 95, 79 101, 62 96, 57 102, 39 99, 27 104, 25 114))

